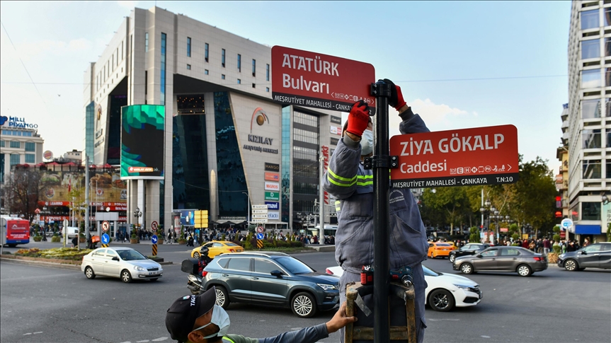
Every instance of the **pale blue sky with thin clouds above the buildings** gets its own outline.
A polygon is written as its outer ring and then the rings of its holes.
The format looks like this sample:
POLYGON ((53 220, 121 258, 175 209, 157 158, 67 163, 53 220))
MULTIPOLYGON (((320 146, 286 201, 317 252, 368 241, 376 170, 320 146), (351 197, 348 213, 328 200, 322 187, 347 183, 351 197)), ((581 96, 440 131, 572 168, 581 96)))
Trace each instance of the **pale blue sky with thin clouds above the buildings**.
POLYGON ((123 17, 153 6, 370 63, 431 131, 513 124, 524 161, 558 173, 570 1, 0 1, 0 115, 38 124, 55 156, 83 150, 84 71, 123 17))

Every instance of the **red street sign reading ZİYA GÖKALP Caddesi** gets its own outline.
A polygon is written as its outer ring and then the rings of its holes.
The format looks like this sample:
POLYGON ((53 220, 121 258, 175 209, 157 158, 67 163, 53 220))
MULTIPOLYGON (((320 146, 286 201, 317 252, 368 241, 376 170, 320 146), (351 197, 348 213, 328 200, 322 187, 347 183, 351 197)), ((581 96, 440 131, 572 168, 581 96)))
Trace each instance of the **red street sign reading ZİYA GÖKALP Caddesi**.
POLYGON ((476 127, 390 139, 399 168, 395 188, 500 185, 518 181, 518 129, 513 125, 476 127))

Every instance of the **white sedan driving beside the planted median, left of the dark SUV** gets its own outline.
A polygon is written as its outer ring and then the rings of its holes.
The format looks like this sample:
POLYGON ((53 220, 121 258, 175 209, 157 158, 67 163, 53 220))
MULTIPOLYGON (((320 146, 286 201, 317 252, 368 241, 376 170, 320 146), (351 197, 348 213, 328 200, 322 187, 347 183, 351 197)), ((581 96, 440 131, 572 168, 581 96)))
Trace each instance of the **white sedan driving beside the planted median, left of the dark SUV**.
POLYGON ((149 260, 132 248, 98 248, 83 256, 81 272, 87 279, 97 275, 118 277, 129 283, 132 279, 149 279, 156 281, 164 274, 161 264, 149 260))

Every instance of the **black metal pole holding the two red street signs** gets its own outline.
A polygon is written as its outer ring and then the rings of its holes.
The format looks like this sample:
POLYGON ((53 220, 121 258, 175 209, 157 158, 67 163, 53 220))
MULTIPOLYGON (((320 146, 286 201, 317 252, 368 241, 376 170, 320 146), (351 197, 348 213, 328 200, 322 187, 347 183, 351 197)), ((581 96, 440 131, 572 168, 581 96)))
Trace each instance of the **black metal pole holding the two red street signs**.
POLYGON ((375 120, 374 156, 371 158, 373 169, 373 302, 375 342, 390 342, 389 320, 389 214, 388 191, 390 178, 390 156, 388 142, 388 98, 390 85, 382 80, 371 85, 371 95, 376 97, 377 116, 375 120))

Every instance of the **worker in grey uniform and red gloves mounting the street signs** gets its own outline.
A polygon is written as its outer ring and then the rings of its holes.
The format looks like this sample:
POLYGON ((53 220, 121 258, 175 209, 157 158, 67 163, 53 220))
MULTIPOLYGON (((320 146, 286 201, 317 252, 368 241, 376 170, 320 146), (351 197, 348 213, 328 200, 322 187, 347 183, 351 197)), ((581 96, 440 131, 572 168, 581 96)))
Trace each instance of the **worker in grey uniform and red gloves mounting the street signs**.
MULTIPOLYGON (((401 134, 430 132, 419 115, 401 94, 401 88, 389 79, 391 85, 389 105, 399 111, 401 134)), ((340 303, 346 301, 346 284, 360 281, 363 266, 373 265, 374 255, 374 193, 373 171, 363 167, 363 159, 372 156, 373 131, 369 107, 360 100, 353 105, 342 130, 342 139, 331 156, 329 168, 324 175, 324 190, 332 194, 336 202, 338 228, 336 233, 336 262, 344 273, 340 279, 340 303)), ((416 293, 416 335, 423 342, 426 320, 424 316, 424 293, 426 281, 421 262, 426 260, 428 243, 416 199, 409 189, 389 189, 389 262, 390 269, 411 267, 416 293)), ((367 308, 373 308, 373 294, 362 298, 367 308)), ((374 316, 357 311, 360 326, 373 327, 374 316)), ((390 325, 405 326, 406 311, 403 301, 390 302, 390 325)), ((341 341, 344 329, 340 330, 341 341)), ((360 342, 360 341, 355 341, 360 342)), ((367 341, 363 341, 367 342, 367 341)), ((400 342, 400 341, 397 341, 400 342)))

